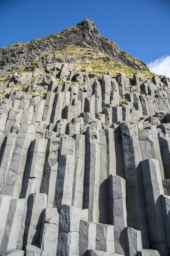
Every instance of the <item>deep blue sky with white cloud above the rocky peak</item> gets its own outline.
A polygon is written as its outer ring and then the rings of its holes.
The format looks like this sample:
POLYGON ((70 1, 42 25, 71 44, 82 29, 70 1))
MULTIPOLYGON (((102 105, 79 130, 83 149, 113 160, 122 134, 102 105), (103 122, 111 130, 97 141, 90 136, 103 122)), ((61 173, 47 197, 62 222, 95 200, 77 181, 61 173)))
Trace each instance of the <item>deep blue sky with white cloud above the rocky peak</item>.
POLYGON ((170 65, 170 0, 0 0, 0 47, 57 33, 85 18, 130 55, 152 67, 170 65))

